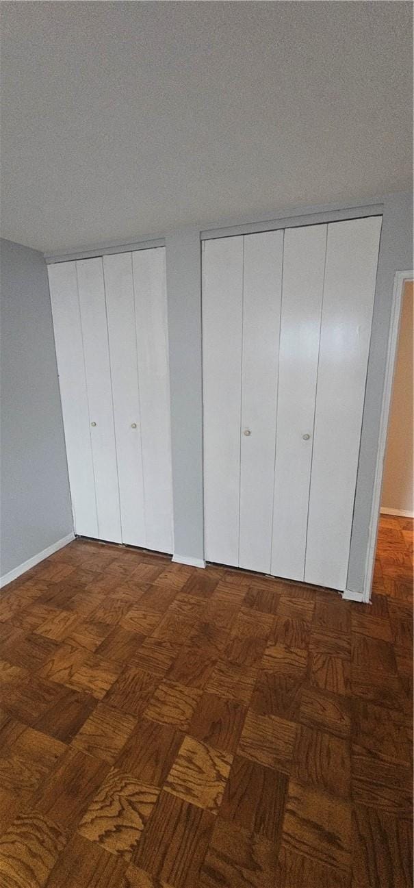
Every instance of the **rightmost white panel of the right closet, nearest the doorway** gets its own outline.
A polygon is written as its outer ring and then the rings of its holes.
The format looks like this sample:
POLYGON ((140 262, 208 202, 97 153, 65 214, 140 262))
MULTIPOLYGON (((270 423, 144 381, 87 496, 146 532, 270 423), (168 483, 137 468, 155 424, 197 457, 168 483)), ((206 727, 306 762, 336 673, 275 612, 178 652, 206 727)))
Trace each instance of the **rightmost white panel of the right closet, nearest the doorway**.
POLYGON ((305 580, 346 588, 380 218, 328 226, 305 580))

